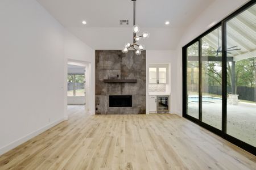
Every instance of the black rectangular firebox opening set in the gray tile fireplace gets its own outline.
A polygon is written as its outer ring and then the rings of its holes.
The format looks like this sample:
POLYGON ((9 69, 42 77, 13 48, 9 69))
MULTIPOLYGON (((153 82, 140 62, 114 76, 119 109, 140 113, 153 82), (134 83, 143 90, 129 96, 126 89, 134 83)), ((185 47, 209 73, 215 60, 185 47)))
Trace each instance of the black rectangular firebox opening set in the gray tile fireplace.
POLYGON ((109 96, 109 107, 133 107, 131 95, 109 96))

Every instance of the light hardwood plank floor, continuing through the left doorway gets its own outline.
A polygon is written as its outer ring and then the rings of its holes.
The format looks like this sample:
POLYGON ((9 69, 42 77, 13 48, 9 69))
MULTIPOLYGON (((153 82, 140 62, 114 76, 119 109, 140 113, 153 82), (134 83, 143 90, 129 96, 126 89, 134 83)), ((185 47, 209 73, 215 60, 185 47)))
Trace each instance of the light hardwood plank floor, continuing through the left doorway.
POLYGON ((0 156, 0 169, 255 169, 254 155, 175 114, 68 121, 0 156))

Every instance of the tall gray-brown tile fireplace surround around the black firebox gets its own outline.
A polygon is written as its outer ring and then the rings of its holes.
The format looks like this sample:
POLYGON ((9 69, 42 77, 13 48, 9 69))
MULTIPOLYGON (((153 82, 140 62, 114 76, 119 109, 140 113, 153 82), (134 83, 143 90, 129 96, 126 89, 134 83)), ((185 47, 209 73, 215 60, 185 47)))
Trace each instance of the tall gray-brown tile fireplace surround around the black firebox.
POLYGON ((145 114, 146 51, 140 56, 133 50, 126 54, 96 50, 95 54, 96 114, 145 114), (131 95, 132 107, 109 107, 110 95, 131 95))

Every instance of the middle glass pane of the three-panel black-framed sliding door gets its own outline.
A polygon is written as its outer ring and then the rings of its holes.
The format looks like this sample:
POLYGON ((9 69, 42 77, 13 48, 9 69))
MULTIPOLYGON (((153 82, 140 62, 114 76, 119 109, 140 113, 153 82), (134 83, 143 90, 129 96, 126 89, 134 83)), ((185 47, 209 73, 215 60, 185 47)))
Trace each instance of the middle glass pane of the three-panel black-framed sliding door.
POLYGON ((201 39, 202 121, 214 128, 222 126, 221 27, 201 39))

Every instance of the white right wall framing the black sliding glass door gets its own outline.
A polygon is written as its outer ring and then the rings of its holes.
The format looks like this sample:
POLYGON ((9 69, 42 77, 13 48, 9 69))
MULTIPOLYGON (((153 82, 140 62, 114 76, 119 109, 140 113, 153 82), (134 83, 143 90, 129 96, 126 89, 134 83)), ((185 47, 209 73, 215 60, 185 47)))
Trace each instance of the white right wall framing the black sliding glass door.
POLYGON ((220 22, 226 18, 233 11, 236 11, 243 4, 248 2, 247 0, 216 0, 208 8, 205 8, 203 12, 189 25, 184 31, 182 38, 180 39, 177 47, 177 61, 176 61, 176 86, 177 86, 177 113, 182 114, 182 47, 188 42, 200 36, 207 31, 214 24, 220 22))

